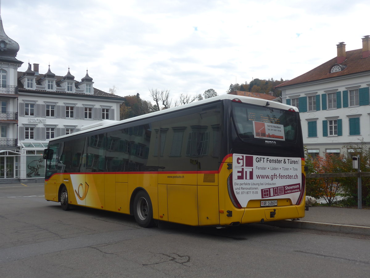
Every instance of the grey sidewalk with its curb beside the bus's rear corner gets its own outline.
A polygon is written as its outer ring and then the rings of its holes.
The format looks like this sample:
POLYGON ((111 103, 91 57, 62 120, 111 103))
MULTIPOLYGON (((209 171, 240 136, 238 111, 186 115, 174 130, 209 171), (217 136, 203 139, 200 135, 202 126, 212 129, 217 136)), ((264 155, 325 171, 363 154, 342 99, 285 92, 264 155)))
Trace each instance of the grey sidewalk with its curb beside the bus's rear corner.
POLYGON ((370 209, 312 206, 299 220, 266 224, 283 228, 312 229, 345 234, 370 235, 370 209))

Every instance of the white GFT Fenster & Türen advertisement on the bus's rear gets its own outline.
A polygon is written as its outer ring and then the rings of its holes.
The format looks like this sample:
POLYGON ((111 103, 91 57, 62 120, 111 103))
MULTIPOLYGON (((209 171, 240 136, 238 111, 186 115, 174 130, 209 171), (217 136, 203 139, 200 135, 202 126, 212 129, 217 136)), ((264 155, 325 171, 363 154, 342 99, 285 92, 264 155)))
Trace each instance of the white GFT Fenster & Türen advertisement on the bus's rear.
MULTIPOLYGON (((293 204, 297 202, 302 190, 300 158, 234 153, 232 161, 233 189, 242 207, 250 200, 259 199, 290 198, 293 204)), ((261 202, 261 206, 268 204, 261 202)), ((274 204, 270 203, 271 206, 274 204)))

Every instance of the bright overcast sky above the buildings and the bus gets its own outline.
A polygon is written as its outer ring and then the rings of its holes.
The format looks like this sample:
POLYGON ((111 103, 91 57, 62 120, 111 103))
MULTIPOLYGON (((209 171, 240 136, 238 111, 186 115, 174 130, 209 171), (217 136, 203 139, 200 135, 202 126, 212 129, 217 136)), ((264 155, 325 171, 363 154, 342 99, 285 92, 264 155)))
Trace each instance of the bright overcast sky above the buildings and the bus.
POLYGON ((121 96, 149 89, 197 95, 231 83, 292 79, 362 48, 369 0, 2 0, 17 59, 56 75, 86 69, 94 87, 121 96))

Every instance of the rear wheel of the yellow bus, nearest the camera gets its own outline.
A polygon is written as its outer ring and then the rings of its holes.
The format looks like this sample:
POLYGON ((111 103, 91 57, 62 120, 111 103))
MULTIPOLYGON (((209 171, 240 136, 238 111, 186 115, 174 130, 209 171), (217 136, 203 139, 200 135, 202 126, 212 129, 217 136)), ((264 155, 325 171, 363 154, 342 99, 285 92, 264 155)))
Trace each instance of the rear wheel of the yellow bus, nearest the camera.
POLYGON ((153 219, 152 201, 145 191, 139 191, 134 198, 134 216, 139 226, 144 228, 153 227, 155 222, 153 219))

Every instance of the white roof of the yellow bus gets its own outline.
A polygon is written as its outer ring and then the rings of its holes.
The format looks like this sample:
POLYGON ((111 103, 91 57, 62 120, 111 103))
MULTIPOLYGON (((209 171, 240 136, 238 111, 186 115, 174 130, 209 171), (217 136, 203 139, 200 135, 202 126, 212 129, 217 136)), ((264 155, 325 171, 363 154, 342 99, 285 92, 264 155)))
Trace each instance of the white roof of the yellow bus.
POLYGON ((162 114, 166 114, 166 113, 171 113, 171 112, 176 111, 176 110, 182 110, 182 109, 186 109, 186 108, 189 108, 189 107, 203 105, 203 104, 206 104, 206 103, 221 101, 221 100, 225 100, 225 99, 226 100, 227 99, 229 99, 229 100, 239 99, 243 103, 250 103, 250 104, 255 104, 255 105, 260 105, 260 106, 266 106, 266 104, 269 103, 269 107, 272 107, 272 108, 278 108, 278 109, 283 109, 283 110, 287 110, 287 109, 292 108, 296 112, 298 112, 297 107, 286 105, 286 104, 280 103, 280 102, 275 102, 275 101, 266 100, 266 99, 260 99, 260 98, 257 98, 257 97, 236 96, 236 95, 223 94, 223 95, 219 95, 219 96, 215 96, 215 97, 210 97, 208 99, 198 100, 198 101, 194 101, 192 103, 187 103, 185 105, 171 107, 171 108, 168 108, 168 109, 164 109, 164 110, 160 110, 160 111, 156 111, 156 112, 152 112, 152 113, 148 113, 148 114, 144 114, 144 115, 140 115, 140 116, 136 116, 136 117, 133 117, 133 118, 124 119, 124 120, 119 120, 119 121, 112 120, 111 122, 101 121, 101 122, 97 122, 97 123, 92 123, 90 125, 83 126, 83 128, 81 128, 81 130, 78 131, 78 132, 58 136, 56 138, 50 139, 49 142, 51 142, 53 140, 59 140, 59 139, 62 139, 62 138, 67 138, 67 137, 70 137, 70 136, 82 134, 82 133, 91 132, 91 131, 94 131, 94 130, 104 129, 104 128, 107 128, 107 127, 110 127, 110 126, 120 125, 122 123, 129 123, 129 122, 133 122, 133 121, 136 121, 136 120, 141 120, 141 119, 146 119, 146 118, 153 117, 153 116, 158 116, 158 115, 162 115, 162 114))

